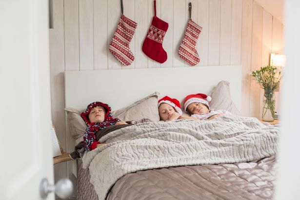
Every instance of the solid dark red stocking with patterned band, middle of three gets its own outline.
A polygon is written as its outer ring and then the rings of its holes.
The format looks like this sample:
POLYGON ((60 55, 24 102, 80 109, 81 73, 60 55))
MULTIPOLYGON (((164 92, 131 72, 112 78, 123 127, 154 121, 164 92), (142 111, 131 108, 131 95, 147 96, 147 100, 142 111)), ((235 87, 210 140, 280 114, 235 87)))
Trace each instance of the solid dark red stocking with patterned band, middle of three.
POLYGON ((150 58, 160 63, 167 60, 167 52, 162 48, 162 41, 169 24, 156 16, 156 0, 154 0, 154 17, 147 37, 144 40, 142 51, 150 58))

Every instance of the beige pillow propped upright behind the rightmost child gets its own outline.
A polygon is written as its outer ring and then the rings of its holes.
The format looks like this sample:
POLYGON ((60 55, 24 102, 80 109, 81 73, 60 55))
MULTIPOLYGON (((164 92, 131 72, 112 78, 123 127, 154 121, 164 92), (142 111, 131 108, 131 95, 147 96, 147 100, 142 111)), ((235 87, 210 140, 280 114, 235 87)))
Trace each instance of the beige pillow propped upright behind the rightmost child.
POLYGON ((210 94, 212 100, 209 106, 216 110, 227 110, 233 115, 241 115, 240 111, 231 100, 229 82, 222 80, 210 94))

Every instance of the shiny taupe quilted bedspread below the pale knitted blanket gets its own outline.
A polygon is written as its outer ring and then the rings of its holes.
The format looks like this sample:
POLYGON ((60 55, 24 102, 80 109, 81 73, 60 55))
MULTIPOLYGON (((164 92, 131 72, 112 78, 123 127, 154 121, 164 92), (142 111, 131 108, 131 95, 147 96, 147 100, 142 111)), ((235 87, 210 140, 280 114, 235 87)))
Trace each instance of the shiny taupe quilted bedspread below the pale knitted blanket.
MULTIPOLYGON (((107 200, 270 200, 276 157, 239 163, 150 169, 126 174, 107 200)), ((98 200, 88 169, 80 165, 78 200, 98 200)))

